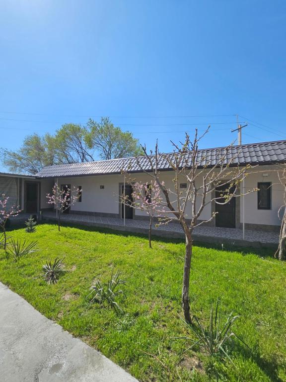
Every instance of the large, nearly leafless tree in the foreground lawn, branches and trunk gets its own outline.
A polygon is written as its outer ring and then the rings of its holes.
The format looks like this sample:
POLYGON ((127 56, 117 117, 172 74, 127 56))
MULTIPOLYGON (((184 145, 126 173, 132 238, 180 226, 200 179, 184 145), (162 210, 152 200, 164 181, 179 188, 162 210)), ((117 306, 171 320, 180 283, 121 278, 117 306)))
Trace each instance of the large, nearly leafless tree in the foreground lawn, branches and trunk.
MULTIPOLYGON (((239 167, 236 165, 239 152, 233 154, 232 144, 222 149, 217 149, 215 158, 209 159, 204 156, 202 151, 199 150, 198 144, 208 131, 209 128, 199 137, 196 130, 193 141, 186 134, 185 142, 181 143, 180 146, 172 142, 174 147, 172 154, 160 154, 156 144, 154 154, 152 152, 148 154, 146 147, 142 147, 144 158, 137 158, 139 168, 157 183, 164 195, 164 201, 161 203, 161 206, 166 207, 164 212, 165 218, 169 221, 178 221, 185 234, 182 307, 185 320, 188 323, 192 323, 189 284, 193 252, 193 231, 196 227, 214 218, 216 212, 212 212, 210 218, 200 220, 202 212, 208 204, 226 204, 231 198, 244 195, 240 191, 240 183, 245 179, 251 167, 239 167), (158 171, 163 162, 167 162, 174 171, 172 190, 166 187, 158 171), (187 184, 187 188, 184 191, 180 190, 182 178, 187 184), (223 191, 221 193, 215 192, 218 188, 223 191), (186 212, 187 205, 191 206, 192 212, 190 216, 186 212)), ((256 190, 253 189, 252 191, 256 190)))

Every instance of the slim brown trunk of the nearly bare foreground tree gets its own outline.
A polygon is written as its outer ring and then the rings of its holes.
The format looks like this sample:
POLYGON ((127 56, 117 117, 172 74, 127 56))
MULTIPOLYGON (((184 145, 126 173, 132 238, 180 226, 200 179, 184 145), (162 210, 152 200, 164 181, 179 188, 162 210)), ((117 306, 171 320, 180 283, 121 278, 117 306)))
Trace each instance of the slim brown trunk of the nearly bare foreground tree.
POLYGON ((183 290, 182 290, 182 306, 183 306, 185 320, 187 323, 191 324, 192 318, 190 315, 189 288, 190 288, 190 272, 191 272, 193 240, 192 240, 192 234, 189 231, 185 231, 185 235, 186 235, 186 253, 185 253, 183 290))

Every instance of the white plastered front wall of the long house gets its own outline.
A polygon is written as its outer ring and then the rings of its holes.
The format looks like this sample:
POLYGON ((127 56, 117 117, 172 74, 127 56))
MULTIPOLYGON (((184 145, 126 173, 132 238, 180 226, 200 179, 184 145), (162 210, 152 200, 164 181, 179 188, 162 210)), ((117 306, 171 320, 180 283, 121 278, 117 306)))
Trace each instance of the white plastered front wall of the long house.
MULTIPOLYGON (((245 223, 246 224, 263 224, 263 225, 280 225, 278 218, 278 210, 283 204, 283 190, 282 186, 278 184, 278 176, 275 171, 275 166, 259 166, 252 169, 252 174, 245 180, 245 191, 252 190, 257 187, 258 182, 272 182, 272 208, 271 210, 261 210, 257 208, 257 192, 250 193, 245 196, 245 223), (268 174, 268 176, 263 176, 268 174)), ((164 179, 167 188, 173 189, 172 179, 174 173, 172 171, 161 172, 161 179, 164 179)), ((132 174, 133 181, 149 182, 150 177, 146 174, 138 173, 132 174)), ((45 180, 47 181, 47 180, 45 180)), ((44 182, 44 180, 42 180, 44 182)), ((123 184, 123 175, 102 175, 102 176, 82 176, 82 177, 70 177, 59 178, 59 185, 71 185, 72 188, 81 186, 82 188, 82 201, 75 202, 71 206, 71 211, 83 211, 93 212, 98 214, 112 214, 118 215, 120 212, 119 205, 119 184, 123 184), (100 189, 100 186, 104 186, 104 189, 100 189)), ((127 180, 126 180, 127 183, 127 180)), ((179 179, 179 183, 186 183, 186 180, 182 177, 179 179)), ((42 183, 42 196, 41 203, 44 203, 45 195, 48 188, 52 189, 51 181, 46 182, 45 186, 42 183), (45 190, 45 191, 44 191, 45 190), (45 195, 44 195, 45 193, 45 195)), ((185 191, 185 189, 181 189, 185 191)), ((209 200, 211 195, 208 196, 209 200)), ((176 205, 175 196, 171 197, 176 205)), ((243 208, 240 200, 236 200, 237 204, 240 204, 240 223, 243 221, 243 208)), ((197 208, 199 207, 200 200, 197 201, 197 208)), ((41 204, 43 205, 43 204, 41 204)), ((192 216, 191 203, 188 203, 186 213, 188 217, 192 216)), ((237 210, 237 212, 239 209, 237 210)), ((212 214, 212 204, 209 203, 203 210, 200 219, 208 220, 212 214)), ((145 216, 146 213, 141 210, 135 210, 135 216, 145 216)), ((238 215, 239 216, 239 215, 238 215)))

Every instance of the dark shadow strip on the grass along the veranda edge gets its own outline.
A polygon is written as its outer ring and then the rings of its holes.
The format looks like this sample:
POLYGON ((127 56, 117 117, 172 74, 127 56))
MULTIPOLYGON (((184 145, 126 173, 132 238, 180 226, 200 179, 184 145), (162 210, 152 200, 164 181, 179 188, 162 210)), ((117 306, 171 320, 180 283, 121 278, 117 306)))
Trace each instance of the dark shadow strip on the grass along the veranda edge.
MULTIPOLYGON (((56 226, 57 222, 43 220, 43 221, 39 221, 37 225, 42 225, 42 224, 56 226)), ((78 223, 72 223, 72 222, 63 221, 61 222, 61 227, 77 228, 77 229, 81 229, 81 230, 89 231, 89 232, 100 232, 100 233, 113 234, 113 235, 119 235, 119 236, 125 236, 125 237, 135 236, 135 237, 140 237, 144 239, 147 238, 147 234, 145 233, 121 231, 121 230, 116 230, 114 228, 88 226, 85 224, 78 224, 78 223)), ((20 229, 20 228, 24 228, 22 224, 17 224, 17 225, 15 224, 10 226, 8 230, 11 231, 11 230, 20 229)), ((163 243, 173 243, 173 244, 184 243, 183 238, 161 237, 159 235, 153 235, 152 241, 163 242, 163 243)), ((236 246, 236 245, 225 244, 225 243, 223 243, 223 246, 222 246, 223 239, 221 239, 221 242, 218 242, 218 241, 220 241, 220 239, 216 239, 216 242, 214 243, 194 240, 194 246, 201 247, 201 248, 214 249, 216 251, 239 252, 243 256, 254 254, 259 257, 263 257, 263 258, 269 257, 272 259, 274 258, 274 254, 276 252, 275 246, 255 248, 255 247, 236 246)), ((172 254, 172 251, 168 250, 168 252, 172 254)))

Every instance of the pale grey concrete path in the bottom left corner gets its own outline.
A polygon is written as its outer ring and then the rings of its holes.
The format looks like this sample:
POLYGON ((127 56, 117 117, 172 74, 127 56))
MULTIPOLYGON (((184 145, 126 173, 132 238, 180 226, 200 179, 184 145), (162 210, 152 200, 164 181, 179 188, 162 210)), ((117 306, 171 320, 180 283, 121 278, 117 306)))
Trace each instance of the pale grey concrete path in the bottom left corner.
POLYGON ((0 283, 1 382, 136 382, 0 283))

